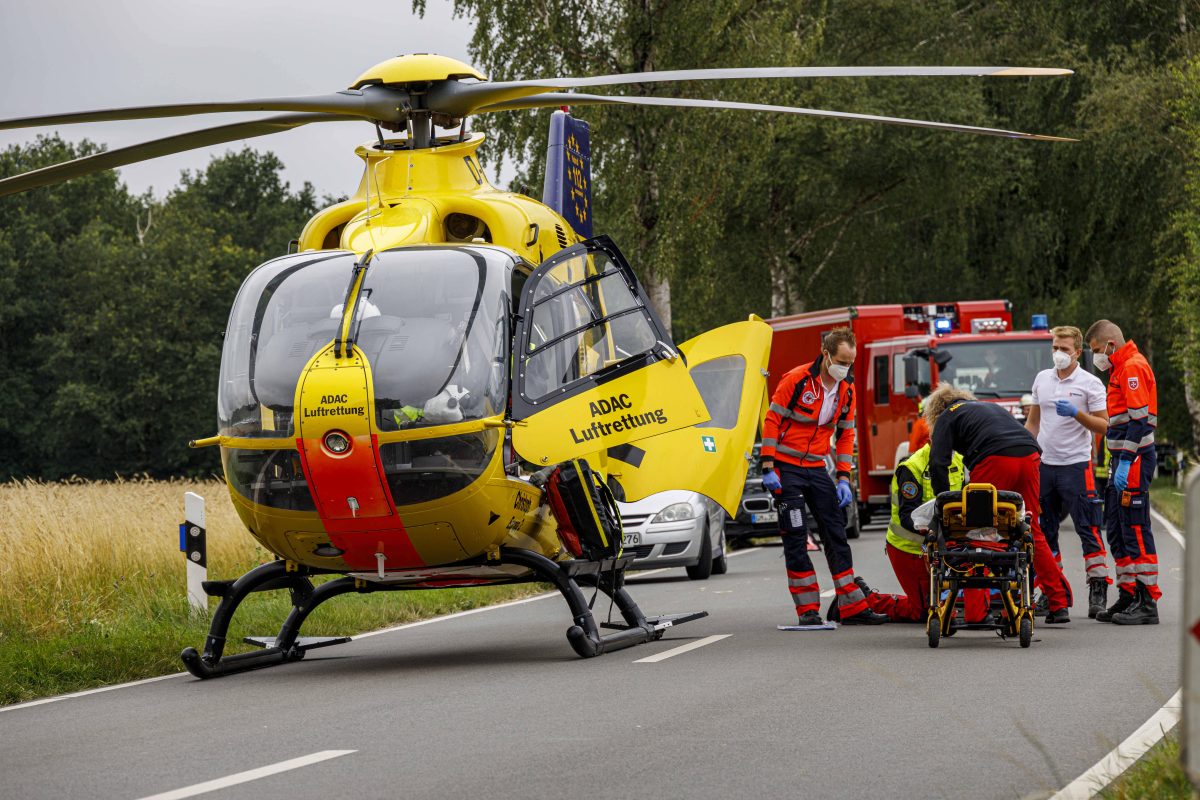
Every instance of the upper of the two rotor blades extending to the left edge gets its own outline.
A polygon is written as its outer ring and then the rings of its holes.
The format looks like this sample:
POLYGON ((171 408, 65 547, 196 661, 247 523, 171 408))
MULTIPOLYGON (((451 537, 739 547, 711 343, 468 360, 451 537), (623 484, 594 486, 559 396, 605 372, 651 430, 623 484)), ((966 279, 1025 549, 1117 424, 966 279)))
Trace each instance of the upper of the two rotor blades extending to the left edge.
POLYGON ((310 97, 266 97, 216 103, 174 103, 168 106, 138 106, 132 108, 103 108, 71 114, 49 114, 0 120, 0 131, 50 125, 74 125, 78 122, 112 122, 120 120, 148 120, 164 116, 190 116, 193 114, 224 114, 232 112, 293 112, 310 114, 353 115, 371 120, 392 121, 408 109, 408 92, 391 86, 364 86, 332 95, 310 97))

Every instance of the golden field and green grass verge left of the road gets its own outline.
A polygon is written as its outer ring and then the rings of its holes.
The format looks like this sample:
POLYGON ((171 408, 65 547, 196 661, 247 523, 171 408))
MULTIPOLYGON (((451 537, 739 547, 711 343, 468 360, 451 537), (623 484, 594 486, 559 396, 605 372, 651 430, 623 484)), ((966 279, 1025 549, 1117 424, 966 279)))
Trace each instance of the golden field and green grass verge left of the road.
MULTIPOLYGON (((182 669, 179 651, 199 649, 208 632, 187 608, 184 492, 206 501, 211 578, 274 558, 245 531, 220 481, 0 485, 0 704, 182 669)), ((304 633, 359 633, 544 590, 347 595, 314 612, 304 633)), ((227 651, 242 636, 275 636, 289 608, 286 591, 247 600, 227 651)))

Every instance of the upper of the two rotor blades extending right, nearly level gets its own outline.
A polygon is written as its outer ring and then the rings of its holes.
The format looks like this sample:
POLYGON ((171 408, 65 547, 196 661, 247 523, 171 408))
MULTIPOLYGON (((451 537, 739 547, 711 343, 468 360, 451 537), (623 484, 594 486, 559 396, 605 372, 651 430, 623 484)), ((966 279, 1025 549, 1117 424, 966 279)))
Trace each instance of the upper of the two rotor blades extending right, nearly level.
POLYGON ((527 97, 553 89, 617 86, 673 80, 744 80, 761 78, 899 78, 899 77, 998 77, 1073 74, 1057 67, 739 67, 732 70, 667 70, 630 72, 588 78, 538 78, 476 84, 443 83, 432 86, 428 107, 451 116, 473 114, 485 106, 527 97))

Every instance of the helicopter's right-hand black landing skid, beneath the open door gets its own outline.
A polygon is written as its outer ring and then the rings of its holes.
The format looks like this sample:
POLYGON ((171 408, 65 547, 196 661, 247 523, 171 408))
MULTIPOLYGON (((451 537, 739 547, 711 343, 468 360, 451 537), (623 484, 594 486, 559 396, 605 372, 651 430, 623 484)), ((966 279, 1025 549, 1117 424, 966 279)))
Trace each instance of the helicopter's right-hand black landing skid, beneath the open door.
POLYGON ((584 658, 599 656, 613 650, 631 648, 635 644, 661 639, 668 627, 683 625, 703 616, 708 612, 690 612, 666 616, 646 616, 634 599, 625 590, 625 567, 632 558, 606 559, 604 561, 566 561, 558 564, 545 555, 515 547, 500 549, 500 559, 510 564, 520 564, 554 588, 566 600, 575 619, 566 631, 566 640, 575 652, 584 658), (624 618, 624 625, 605 622, 598 625, 592 608, 580 589, 580 581, 596 587, 616 603, 624 618), (600 627, 616 628, 616 633, 600 633, 600 627))

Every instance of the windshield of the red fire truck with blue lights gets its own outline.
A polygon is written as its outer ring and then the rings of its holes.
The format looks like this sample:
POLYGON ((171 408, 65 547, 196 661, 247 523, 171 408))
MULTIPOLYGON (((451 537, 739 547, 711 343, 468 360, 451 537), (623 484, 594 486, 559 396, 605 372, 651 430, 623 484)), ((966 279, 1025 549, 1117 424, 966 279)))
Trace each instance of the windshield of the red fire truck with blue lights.
POLYGON ((978 397, 1020 397, 1033 386, 1037 374, 1051 366, 1046 339, 943 342, 937 349, 950 356, 938 368, 938 381, 978 397))

